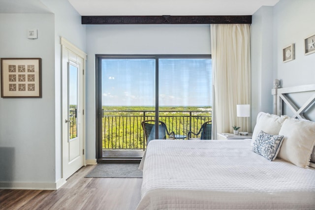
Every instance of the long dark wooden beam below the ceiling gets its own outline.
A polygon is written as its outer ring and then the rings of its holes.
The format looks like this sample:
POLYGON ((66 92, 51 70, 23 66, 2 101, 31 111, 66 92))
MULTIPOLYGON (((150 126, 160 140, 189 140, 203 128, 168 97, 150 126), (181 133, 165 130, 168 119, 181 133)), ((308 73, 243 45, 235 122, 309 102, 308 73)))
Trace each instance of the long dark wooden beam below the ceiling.
POLYGON ((82 24, 251 24, 252 15, 236 16, 82 16, 82 24))

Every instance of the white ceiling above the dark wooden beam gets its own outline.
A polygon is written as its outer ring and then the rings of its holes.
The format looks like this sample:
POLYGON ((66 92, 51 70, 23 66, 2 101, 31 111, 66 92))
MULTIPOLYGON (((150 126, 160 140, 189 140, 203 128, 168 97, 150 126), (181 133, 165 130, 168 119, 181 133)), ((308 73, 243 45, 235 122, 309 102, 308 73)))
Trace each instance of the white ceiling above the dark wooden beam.
POLYGON ((252 15, 279 0, 69 0, 82 16, 252 15))

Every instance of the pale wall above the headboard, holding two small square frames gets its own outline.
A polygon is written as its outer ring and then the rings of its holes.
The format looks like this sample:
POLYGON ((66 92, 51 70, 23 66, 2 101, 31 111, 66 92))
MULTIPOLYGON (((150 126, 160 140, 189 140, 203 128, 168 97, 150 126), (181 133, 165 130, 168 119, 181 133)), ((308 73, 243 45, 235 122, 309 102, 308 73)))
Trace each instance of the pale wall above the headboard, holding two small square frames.
POLYGON ((275 68, 283 87, 315 83, 315 54, 304 55, 304 39, 315 34, 315 0, 281 0, 274 7, 275 68), (295 44, 295 60, 282 61, 282 49, 295 44))

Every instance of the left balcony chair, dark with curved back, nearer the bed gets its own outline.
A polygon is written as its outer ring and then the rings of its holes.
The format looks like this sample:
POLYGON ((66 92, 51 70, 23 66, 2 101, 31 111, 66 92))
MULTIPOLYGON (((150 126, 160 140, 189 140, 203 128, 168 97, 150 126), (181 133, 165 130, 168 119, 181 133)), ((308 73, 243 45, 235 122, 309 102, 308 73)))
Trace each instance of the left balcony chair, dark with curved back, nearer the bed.
MULTIPOLYGON (((156 139, 155 120, 145 120, 142 121, 141 124, 148 145, 151 140, 156 139)), ((174 131, 169 133, 166 124, 162 121, 158 121, 158 139, 166 139, 166 134, 168 135, 169 139, 174 139, 174 131)))

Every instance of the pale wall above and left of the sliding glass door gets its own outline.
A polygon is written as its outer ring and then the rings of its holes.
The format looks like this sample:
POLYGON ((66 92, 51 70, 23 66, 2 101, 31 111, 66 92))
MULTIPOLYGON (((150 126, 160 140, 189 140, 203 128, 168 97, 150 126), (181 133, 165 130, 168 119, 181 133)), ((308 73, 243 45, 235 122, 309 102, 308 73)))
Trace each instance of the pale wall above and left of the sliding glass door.
POLYGON ((95 54, 211 54, 210 25, 88 25, 87 53, 87 159, 95 159, 95 54))

